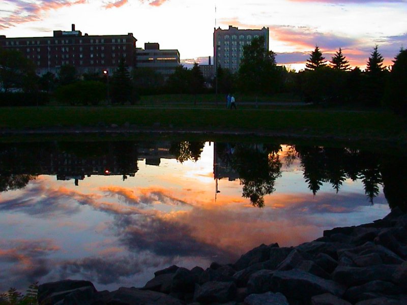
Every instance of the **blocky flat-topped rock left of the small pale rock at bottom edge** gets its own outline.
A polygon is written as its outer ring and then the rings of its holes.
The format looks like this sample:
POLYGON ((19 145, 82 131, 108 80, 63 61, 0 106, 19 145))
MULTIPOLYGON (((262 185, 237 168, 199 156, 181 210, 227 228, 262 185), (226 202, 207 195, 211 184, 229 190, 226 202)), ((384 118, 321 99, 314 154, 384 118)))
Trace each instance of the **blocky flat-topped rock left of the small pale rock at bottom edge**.
POLYGON ((225 303, 233 300, 235 296, 235 283, 207 282, 202 286, 197 285, 194 293, 194 301, 200 303, 225 303))

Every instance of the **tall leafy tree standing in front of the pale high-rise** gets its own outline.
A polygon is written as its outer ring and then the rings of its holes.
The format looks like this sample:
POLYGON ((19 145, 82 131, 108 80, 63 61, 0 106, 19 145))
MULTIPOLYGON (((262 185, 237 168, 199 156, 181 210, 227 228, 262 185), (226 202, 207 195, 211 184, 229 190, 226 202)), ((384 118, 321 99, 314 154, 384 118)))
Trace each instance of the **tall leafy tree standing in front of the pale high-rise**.
POLYGON ((276 54, 265 47, 263 36, 243 47, 239 68, 239 89, 243 92, 273 93, 280 87, 276 54))

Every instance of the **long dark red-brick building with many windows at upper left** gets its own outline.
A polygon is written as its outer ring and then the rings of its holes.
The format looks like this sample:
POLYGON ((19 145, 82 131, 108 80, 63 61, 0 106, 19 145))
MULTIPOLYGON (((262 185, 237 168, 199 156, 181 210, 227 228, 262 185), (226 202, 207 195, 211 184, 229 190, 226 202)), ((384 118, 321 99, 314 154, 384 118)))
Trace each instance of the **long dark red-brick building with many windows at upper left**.
POLYGON ((79 73, 111 72, 124 57, 134 66, 136 41, 127 35, 88 35, 75 30, 54 31, 52 37, 6 38, 0 36, 0 47, 18 50, 37 66, 39 74, 57 73, 61 66, 71 65, 79 73))

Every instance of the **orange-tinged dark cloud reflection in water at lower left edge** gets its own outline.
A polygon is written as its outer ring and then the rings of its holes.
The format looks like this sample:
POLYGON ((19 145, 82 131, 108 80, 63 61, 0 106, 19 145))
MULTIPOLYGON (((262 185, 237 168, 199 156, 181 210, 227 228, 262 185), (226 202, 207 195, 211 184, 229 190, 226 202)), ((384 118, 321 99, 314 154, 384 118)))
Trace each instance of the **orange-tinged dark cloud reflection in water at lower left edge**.
POLYGON ((0 262, 3 269, 0 272, 0 292, 9 287, 21 286, 21 282, 34 283, 47 275, 52 268, 47 257, 59 250, 51 239, 0 240, 0 262))

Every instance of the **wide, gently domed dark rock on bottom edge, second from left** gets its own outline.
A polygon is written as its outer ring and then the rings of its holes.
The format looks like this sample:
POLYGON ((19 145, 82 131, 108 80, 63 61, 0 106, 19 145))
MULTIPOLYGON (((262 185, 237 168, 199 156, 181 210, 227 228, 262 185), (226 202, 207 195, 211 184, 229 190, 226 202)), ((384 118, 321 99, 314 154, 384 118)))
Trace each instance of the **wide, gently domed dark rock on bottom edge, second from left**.
POLYGON ((161 292, 122 287, 100 300, 99 304, 182 305, 182 302, 161 292))

